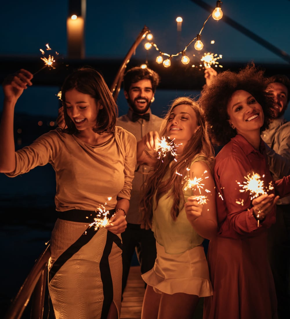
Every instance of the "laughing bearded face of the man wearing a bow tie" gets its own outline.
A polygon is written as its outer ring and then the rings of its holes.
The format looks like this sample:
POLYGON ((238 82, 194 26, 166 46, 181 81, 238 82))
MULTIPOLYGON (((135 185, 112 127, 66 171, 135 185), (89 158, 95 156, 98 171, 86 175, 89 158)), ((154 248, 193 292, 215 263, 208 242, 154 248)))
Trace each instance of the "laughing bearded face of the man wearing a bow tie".
POLYGON ((124 91, 125 98, 128 100, 130 108, 138 114, 145 114, 154 97, 152 84, 149 79, 140 80, 132 83, 129 92, 124 91))

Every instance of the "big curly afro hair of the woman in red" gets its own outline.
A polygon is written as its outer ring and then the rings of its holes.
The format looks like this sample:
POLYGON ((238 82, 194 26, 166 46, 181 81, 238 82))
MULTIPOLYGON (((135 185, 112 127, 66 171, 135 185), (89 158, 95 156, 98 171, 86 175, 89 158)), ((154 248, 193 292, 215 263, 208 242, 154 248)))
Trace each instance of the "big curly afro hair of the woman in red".
POLYGON ((237 90, 249 92, 262 106, 264 112, 264 125, 261 132, 268 129, 273 119, 272 108, 274 99, 266 91, 269 80, 264 77, 264 71, 257 69, 252 63, 239 73, 225 71, 219 73, 210 85, 204 85, 199 105, 204 109, 205 118, 209 123, 212 142, 225 145, 237 135, 229 123, 227 105, 233 93, 237 90))

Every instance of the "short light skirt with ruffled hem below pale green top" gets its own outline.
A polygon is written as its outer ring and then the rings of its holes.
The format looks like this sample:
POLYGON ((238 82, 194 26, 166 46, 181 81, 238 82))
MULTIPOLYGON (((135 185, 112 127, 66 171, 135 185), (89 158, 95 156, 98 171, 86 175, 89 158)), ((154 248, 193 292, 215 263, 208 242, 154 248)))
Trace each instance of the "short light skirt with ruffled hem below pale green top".
POLYGON ((202 245, 181 254, 167 254, 156 242, 154 267, 142 275, 156 293, 187 293, 206 297, 212 295, 207 261, 202 245))

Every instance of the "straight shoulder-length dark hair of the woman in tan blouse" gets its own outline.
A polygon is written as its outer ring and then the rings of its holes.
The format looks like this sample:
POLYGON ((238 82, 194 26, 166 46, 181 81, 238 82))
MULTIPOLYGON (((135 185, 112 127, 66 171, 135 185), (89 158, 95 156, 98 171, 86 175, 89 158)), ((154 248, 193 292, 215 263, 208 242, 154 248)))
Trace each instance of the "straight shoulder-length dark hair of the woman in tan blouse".
MULTIPOLYGON (((91 68, 81 68, 70 74, 62 86, 62 102, 64 120, 67 125, 67 131, 70 134, 77 132, 75 124, 67 114, 65 103, 65 93, 76 89, 80 93, 89 94, 99 102, 103 108, 97 110, 97 120, 93 131, 99 134, 110 133, 114 130, 118 116, 118 108, 112 97, 112 94, 101 74, 91 68)), ((97 103, 98 105, 98 103, 97 103)))

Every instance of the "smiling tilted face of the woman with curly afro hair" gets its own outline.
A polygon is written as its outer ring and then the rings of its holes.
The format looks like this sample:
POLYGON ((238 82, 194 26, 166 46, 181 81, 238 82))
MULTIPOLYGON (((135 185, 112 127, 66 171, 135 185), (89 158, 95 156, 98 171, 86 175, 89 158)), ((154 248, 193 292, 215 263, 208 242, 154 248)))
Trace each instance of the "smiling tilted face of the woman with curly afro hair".
MULTIPOLYGON (((264 124, 262 106, 247 91, 235 91, 227 104, 229 123, 238 134, 247 137, 253 132, 260 132, 264 124)), ((260 134, 260 133, 259 133, 260 134)))

